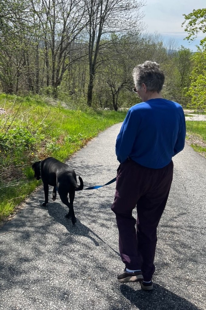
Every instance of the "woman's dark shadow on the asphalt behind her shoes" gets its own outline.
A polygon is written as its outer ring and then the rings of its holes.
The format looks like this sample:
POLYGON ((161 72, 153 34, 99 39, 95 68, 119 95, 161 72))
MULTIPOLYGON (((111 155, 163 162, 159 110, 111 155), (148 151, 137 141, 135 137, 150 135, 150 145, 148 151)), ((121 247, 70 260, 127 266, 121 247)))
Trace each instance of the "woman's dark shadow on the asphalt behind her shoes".
MULTIPOLYGON (((190 303, 162 286, 153 283, 153 291, 134 290, 132 287, 123 284, 120 291, 131 304, 139 310, 200 310, 190 303)), ((112 309, 115 310, 115 309, 112 309)))

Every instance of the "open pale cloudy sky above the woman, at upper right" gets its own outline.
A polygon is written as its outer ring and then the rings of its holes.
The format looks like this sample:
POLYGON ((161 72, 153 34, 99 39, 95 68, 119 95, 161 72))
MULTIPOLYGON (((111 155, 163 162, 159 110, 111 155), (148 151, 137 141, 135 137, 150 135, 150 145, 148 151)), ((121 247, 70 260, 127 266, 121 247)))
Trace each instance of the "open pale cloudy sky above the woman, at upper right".
POLYGON ((141 10, 145 15, 142 21, 147 26, 146 32, 159 33, 165 44, 174 38, 177 47, 183 45, 196 51, 195 45, 199 45, 205 35, 200 33, 192 43, 184 40, 187 32, 181 27, 184 21, 183 14, 205 7, 206 0, 145 0, 145 6, 141 10))

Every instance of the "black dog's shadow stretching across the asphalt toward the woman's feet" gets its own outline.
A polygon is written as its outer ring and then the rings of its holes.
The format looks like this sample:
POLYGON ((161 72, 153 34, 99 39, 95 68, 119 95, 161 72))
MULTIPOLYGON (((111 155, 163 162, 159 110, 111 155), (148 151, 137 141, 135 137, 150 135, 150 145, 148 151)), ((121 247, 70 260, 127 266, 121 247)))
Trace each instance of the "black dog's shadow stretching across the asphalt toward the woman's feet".
MULTIPOLYGON (((41 200, 40 203, 43 201, 41 200)), ((93 232, 90 228, 85 226, 80 222, 80 220, 77 219, 77 223, 75 225, 72 224, 71 219, 67 219, 65 215, 68 213, 68 208, 65 206, 62 206, 58 202, 50 202, 47 204, 47 206, 43 207, 45 210, 48 210, 48 214, 53 217, 55 222, 60 223, 61 225, 65 226, 67 231, 71 235, 78 235, 89 238, 92 242, 94 242, 95 246, 99 246, 99 242, 103 242, 104 244, 107 244, 105 241, 103 241, 102 238, 100 238, 95 232, 93 232)), ((111 248, 112 251, 114 251, 118 256, 120 254, 114 250, 111 246, 107 244, 108 247, 111 248)))

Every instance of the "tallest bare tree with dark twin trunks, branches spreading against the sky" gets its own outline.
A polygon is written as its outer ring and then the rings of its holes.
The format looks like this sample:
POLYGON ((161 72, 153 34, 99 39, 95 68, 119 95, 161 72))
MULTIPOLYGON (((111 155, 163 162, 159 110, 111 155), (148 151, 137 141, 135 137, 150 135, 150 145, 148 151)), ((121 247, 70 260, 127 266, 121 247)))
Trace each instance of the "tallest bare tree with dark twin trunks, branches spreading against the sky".
POLYGON ((144 2, 132 2, 130 0, 84 0, 89 23, 88 32, 88 54, 89 54, 89 83, 87 93, 87 104, 91 106, 92 91, 97 66, 99 51, 115 43, 120 34, 127 35, 130 32, 138 33, 141 29, 140 8, 144 2), (113 36, 111 35, 113 34, 113 36), (103 39, 110 40, 104 41, 103 39))

